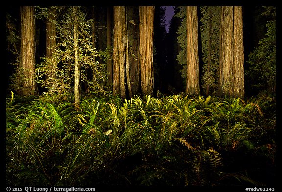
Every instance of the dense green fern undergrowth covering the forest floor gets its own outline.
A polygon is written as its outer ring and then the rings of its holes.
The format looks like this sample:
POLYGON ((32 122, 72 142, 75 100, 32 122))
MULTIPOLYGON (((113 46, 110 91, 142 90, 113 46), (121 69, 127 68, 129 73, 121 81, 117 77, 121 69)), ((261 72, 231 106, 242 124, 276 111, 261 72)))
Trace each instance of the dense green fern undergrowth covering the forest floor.
POLYGON ((275 98, 6 100, 7 185, 271 185, 275 98), (56 101, 56 102, 55 102, 56 101))

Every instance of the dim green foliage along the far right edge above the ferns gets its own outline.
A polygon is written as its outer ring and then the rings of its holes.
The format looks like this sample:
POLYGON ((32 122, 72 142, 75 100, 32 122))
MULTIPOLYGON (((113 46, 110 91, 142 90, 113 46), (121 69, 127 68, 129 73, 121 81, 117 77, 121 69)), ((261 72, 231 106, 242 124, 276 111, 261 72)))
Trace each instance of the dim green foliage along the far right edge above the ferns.
POLYGON ((267 32, 265 37, 259 41, 254 51, 249 54, 247 63, 250 65, 247 76, 253 92, 275 93, 276 89, 276 9, 275 7, 264 7, 264 17, 268 18, 266 23, 267 32))

